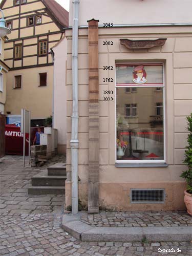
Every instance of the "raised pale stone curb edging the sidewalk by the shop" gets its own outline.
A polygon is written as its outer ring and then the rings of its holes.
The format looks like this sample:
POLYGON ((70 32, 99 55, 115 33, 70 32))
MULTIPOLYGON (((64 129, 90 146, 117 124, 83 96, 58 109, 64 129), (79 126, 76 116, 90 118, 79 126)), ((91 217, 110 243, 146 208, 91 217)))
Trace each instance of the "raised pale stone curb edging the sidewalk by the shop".
POLYGON ((191 241, 192 227, 93 227, 80 221, 80 214, 63 215, 62 228, 71 236, 87 242, 191 241))

